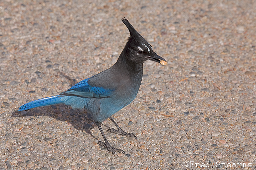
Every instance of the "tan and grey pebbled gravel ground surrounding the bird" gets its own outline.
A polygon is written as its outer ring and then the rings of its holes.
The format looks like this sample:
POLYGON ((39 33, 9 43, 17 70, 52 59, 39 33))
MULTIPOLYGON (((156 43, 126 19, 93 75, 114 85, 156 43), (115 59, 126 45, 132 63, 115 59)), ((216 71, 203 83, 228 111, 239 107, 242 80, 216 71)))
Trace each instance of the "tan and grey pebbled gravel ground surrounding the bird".
POLYGON ((0 169, 256 169, 255 9, 251 0, 1 0, 0 169), (124 16, 168 61, 144 63, 137 98, 113 115, 138 137, 106 133, 125 155, 99 147, 85 111, 17 112, 113 65, 129 36, 124 16))

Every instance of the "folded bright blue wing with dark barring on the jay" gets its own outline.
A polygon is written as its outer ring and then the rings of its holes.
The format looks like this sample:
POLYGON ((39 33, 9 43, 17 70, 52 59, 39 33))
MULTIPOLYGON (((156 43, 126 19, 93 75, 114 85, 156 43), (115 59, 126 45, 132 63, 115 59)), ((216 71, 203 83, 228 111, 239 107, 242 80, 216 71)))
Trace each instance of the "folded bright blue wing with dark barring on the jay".
POLYGON ((90 86, 88 84, 88 79, 85 79, 74 86, 72 86, 67 91, 63 91, 60 95, 64 96, 78 96, 84 98, 105 98, 112 95, 112 89, 105 89, 103 87, 90 86))

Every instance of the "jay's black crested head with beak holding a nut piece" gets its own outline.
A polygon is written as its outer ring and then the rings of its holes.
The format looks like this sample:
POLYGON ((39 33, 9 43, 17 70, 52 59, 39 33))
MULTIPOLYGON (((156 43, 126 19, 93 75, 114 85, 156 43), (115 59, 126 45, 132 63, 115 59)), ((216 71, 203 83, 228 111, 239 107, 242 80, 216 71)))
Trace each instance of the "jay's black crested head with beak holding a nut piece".
POLYGON ((126 54, 128 54, 129 60, 142 63, 146 60, 152 60, 162 65, 167 64, 167 61, 154 52, 152 46, 132 27, 126 18, 123 18, 122 21, 130 32, 130 37, 126 44, 126 54))

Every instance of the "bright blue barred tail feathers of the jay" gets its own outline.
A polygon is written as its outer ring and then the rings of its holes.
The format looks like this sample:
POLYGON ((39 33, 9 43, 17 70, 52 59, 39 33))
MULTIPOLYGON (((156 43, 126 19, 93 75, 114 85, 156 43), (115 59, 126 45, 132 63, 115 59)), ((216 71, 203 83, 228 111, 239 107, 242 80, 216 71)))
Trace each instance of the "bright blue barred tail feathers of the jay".
POLYGON ((49 106, 53 104, 63 103, 63 101, 61 101, 60 99, 61 97, 59 97, 58 95, 58 96, 52 96, 52 97, 46 97, 43 99, 34 100, 32 102, 28 102, 20 106, 18 111, 26 111, 34 107, 49 106))

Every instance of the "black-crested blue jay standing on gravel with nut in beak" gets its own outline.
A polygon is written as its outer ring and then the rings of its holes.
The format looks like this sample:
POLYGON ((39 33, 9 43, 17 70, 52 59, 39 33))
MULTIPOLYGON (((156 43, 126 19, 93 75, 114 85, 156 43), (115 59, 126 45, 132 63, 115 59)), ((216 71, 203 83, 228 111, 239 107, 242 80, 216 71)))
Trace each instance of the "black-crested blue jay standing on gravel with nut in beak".
POLYGON ((92 115, 104 139, 104 142, 99 141, 98 145, 105 147, 113 155, 115 155, 115 152, 125 154, 122 149, 117 149, 110 145, 101 128, 101 124, 109 118, 117 130, 111 128, 107 132, 137 139, 133 133, 123 131, 111 116, 130 104, 137 96, 145 61, 151 60, 162 65, 165 65, 167 61, 154 52, 148 41, 133 28, 125 17, 122 21, 128 28, 130 37, 128 37, 123 51, 113 66, 75 84, 57 96, 26 103, 20 106, 18 111, 60 103, 69 105, 73 109, 85 109, 87 113, 92 115))

